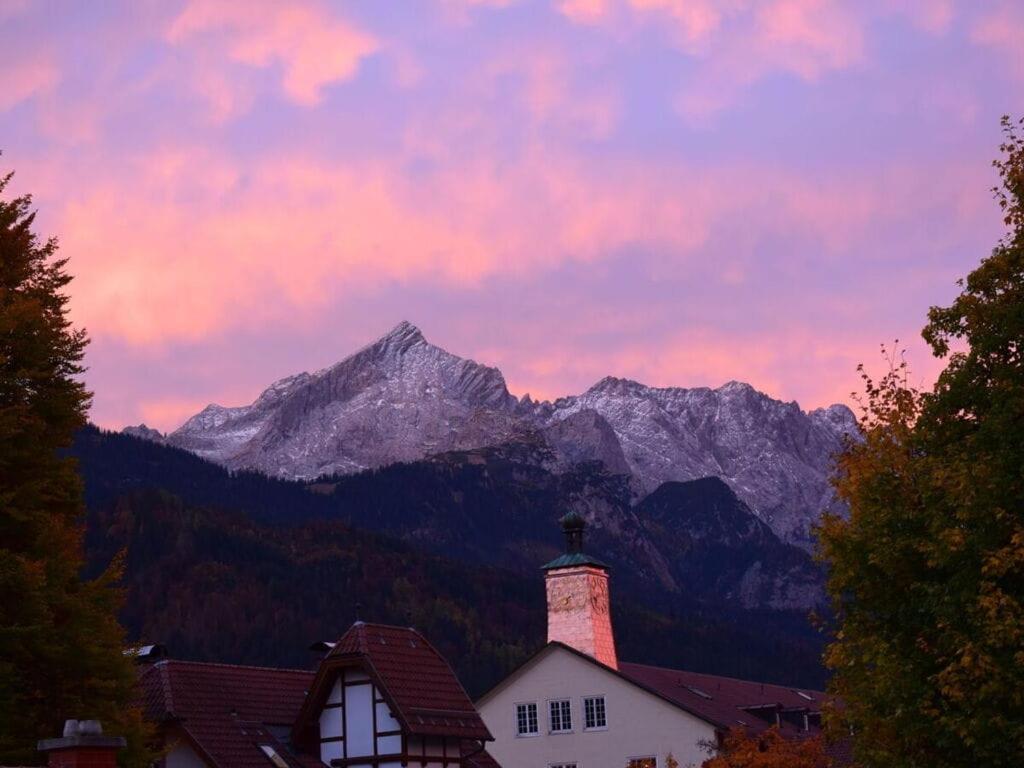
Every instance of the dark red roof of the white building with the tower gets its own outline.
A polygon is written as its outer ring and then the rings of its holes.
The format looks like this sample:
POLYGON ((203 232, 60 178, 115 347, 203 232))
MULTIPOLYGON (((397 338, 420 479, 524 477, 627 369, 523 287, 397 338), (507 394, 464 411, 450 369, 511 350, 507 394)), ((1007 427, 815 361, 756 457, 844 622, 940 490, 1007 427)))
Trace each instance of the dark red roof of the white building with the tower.
MULTIPOLYGON (((768 722, 752 714, 749 710, 754 708, 779 706, 782 710, 807 710, 816 713, 820 712, 824 705, 830 700, 827 694, 807 688, 756 683, 749 680, 649 667, 642 664, 622 663, 615 670, 569 645, 555 641, 548 643, 526 659, 517 670, 484 693, 477 703, 485 701, 527 668, 555 650, 565 650, 604 672, 678 707, 719 730, 745 727, 757 733, 770 727, 773 721, 768 722)), ((807 731, 785 722, 785 720, 782 720, 779 730, 783 735, 793 737, 808 735, 807 731)))

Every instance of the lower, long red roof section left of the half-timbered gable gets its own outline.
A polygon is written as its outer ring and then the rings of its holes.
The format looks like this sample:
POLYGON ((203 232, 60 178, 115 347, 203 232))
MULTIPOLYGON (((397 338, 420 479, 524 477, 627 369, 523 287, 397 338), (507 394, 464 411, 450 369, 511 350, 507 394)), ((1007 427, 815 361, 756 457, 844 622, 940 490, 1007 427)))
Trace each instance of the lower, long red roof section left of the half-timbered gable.
POLYGON ((312 680, 305 670, 164 660, 142 671, 139 687, 146 717, 179 732, 216 768, 273 768, 261 746, 292 768, 323 768, 267 729, 291 726, 312 680))

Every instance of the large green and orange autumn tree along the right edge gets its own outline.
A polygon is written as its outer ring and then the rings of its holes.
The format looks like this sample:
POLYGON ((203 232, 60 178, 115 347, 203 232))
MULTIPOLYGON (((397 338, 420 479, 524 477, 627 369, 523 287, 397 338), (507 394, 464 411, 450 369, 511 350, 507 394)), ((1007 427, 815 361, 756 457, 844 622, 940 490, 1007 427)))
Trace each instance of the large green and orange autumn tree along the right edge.
POLYGON ((1024 755, 1024 137, 1004 119, 1008 231, 934 307, 931 391, 865 376, 862 441, 839 463, 848 519, 821 554, 826 653, 865 768, 1019 766, 1024 755))

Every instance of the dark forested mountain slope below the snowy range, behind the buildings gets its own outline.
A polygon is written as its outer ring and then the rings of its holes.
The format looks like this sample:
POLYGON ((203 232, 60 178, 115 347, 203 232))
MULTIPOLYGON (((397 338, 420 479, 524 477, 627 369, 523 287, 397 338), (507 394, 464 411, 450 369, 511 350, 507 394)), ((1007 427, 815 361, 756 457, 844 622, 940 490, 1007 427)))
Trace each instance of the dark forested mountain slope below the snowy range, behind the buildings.
POLYGON ((312 484, 94 428, 74 454, 91 572, 127 548, 130 635, 178 657, 301 666, 306 644, 337 636, 361 603, 366 618, 425 631, 483 690, 543 641, 537 566, 560 551, 568 506, 590 520, 595 551, 611 548, 624 658, 820 685, 821 639, 802 611, 745 609, 721 597, 724 582, 667 589, 646 569, 639 514, 618 514, 625 478, 548 472, 532 455, 545 450, 511 443, 312 484))

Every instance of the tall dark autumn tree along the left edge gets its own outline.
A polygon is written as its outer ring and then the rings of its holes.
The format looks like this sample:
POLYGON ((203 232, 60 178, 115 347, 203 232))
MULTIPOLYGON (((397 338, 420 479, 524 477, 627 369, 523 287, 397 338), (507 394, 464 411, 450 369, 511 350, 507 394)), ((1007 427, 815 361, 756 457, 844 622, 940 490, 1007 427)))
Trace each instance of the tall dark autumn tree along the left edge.
POLYGON ((132 737, 134 670, 117 621, 117 563, 83 581, 82 483, 61 456, 85 424, 85 332, 68 318, 67 259, 33 231, 29 197, 0 178, 0 763, 39 761, 67 718, 132 737))

